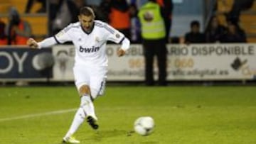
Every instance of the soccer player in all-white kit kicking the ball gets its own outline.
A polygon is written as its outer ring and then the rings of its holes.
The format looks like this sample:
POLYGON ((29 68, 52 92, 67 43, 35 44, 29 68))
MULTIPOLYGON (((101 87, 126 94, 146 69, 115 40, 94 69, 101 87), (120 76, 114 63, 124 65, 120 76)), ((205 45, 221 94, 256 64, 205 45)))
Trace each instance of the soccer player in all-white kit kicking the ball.
POLYGON ((82 7, 78 18, 79 22, 71 23, 53 37, 46 38, 39 43, 33 38, 27 41, 27 44, 31 48, 38 49, 67 41, 72 41, 75 45, 73 73, 81 103, 78 111, 75 113, 68 133, 63 138, 63 143, 80 143, 79 140, 73 138, 73 134, 85 119, 93 129, 98 128, 93 100, 97 96, 102 95, 105 89, 107 40, 122 44, 121 48, 117 50, 119 57, 125 54, 130 44, 124 34, 112 28, 107 23, 96 21, 95 13, 90 7, 82 7))

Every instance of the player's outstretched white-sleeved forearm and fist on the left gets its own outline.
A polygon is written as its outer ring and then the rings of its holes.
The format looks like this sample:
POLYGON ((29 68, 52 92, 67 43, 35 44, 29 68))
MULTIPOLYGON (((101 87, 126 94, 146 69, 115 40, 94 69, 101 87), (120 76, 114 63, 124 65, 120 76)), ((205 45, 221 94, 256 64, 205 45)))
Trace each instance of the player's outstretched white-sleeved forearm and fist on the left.
POLYGON ((53 46, 55 44, 57 44, 57 41, 55 40, 54 37, 46 38, 39 43, 36 42, 36 40, 34 40, 33 38, 29 38, 27 40, 27 45, 30 48, 37 48, 37 49, 47 48, 47 47, 53 46))

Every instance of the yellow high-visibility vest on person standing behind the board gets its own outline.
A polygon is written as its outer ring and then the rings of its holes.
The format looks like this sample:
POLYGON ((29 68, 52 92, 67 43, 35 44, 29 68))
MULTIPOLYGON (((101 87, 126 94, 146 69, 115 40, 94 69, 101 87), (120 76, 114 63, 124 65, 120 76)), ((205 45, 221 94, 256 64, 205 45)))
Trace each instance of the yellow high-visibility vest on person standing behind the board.
POLYGON ((142 38, 160 39, 166 36, 164 19, 159 4, 149 1, 139 9, 139 21, 142 25, 142 38))

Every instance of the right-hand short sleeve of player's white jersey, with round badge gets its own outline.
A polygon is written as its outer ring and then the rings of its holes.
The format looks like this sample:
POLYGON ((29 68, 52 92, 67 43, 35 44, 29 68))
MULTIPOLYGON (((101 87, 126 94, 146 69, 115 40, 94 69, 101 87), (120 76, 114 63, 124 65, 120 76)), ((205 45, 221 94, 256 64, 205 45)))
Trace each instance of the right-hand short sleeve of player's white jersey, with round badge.
POLYGON ((108 25, 105 26, 105 29, 108 33, 107 40, 110 40, 114 43, 122 43, 122 40, 124 40, 125 36, 123 33, 117 31, 116 29, 112 28, 112 26, 108 25))

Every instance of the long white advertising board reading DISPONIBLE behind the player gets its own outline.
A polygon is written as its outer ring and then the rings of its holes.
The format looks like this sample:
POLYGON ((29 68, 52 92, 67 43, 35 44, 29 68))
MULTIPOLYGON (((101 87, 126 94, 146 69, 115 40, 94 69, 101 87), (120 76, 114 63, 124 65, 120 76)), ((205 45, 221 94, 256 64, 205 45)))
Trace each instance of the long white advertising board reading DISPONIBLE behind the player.
MULTIPOLYGON (((124 57, 117 57, 120 45, 107 45, 109 81, 144 80, 142 45, 131 45, 124 57)), ((168 80, 238 80, 256 78, 255 44, 167 45, 168 80)), ((73 45, 53 47, 53 80, 73 80, 73 45)), ((154 62, 157 79, 156 59, 154 62)))

